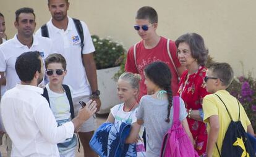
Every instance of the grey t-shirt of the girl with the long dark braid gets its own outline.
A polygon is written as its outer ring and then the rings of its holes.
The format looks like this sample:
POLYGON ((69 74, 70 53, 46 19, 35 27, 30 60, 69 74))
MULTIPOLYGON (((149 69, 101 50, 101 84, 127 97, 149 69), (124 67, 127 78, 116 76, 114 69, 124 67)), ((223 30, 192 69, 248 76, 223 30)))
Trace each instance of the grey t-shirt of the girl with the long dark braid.
MULTIPOLYGON (((179 119, 182 121, 187 117, 187 111, 183 100, 180 98, 179 119)), ((142 119, 146 128, 147 156, 159 157, 163 137, 173 124, 173 107, 171 107, 170 123, 165 119, 168 114, 168 100, 155 99, 151 95, 145 95, 140 99, 140 106, 137 110, 137 119, 142 119)))

